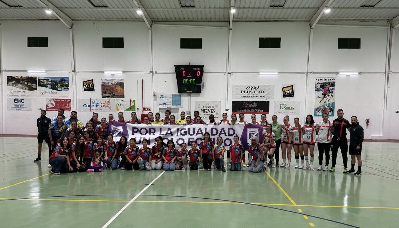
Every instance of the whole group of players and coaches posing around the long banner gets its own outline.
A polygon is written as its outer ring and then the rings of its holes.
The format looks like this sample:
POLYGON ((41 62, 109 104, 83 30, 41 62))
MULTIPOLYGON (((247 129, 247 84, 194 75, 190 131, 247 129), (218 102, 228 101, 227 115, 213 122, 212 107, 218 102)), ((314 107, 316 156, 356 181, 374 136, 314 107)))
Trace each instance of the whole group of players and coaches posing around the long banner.
POLYGON ((98 113, 93 113, 92 118, 83 124, 78 120, 76 111, 66 117, 61 108, 58 115, 50 119, 47 118, 46 111, 41 110, 37 120, 38 157, 34 162, 41 161, 42 145, 45 141, 49 148, 48 167, 55 175, 83 171, 101 172, 105 169, 173 171, 186 170, 187 166, 190 170, 197 170, 202 166, 204 170, 217 169, 225 172, 225 163, 231 171, 241 171, 247 167, 249 172, 258 173, 265 171, 267 167, 289 169, 293 148, 296 161, 294 168, 314 170, 314 149, 317 146, 318 171, 334 172, 340 149, 343 173, 361 175, 363 128, 356 116, 352 116, 350 121, 345 119, 342 109, 338 109, 336 115, 338 118, 330 121, 328 113, 323 113, 322 121, 318 123, 314 122, 310 114, 302 123, 299 118, 290 120, 290 116, 285 116, 280 123, 276 115, 268 122, 266 114, 261 115, 260 121, 252 114, 251 121, 247 122, 244 120, 244 113, 239 113, 238 118, 236 114, 231 114, 230 119, 227 113, 223 113, 219 121, 215 121, 215 116, 211 114, 209 122, 204 122, 198 111, 194 111, 193 117, 181 112, 180 118, 176 118, 171 115, 170 110, 166 110, 163 118, 160 113, 153 115, 149 112, 143 122, 138 119, 136 112, 131 113, 129 120, 125 120, 123 112, 119 112, 116 119, 113 114, 109 114, 108 119, 100 119, 98 113), (137 142, 141 145, 139 147, 136 145, 136 138, 116 138, 109 129, 114 123, 186 125, 188 128, 192 125, 254 125, 261 129, 261 134, 251 134, 248 137, 248 146, 242 145, 238 134, 233 136, 231 143, 225 145, 222 136, 212 139, 208 132, 203 132, 197 135, 201 137, 199 141, 179 142, 177 145, 174 140, 160 135, 154 138, 153 143, 145 138, 140 139, 137 142), (347 168, 348 149, 351 156, 350 169, 347 168), (329 167, 330 150, 332 164, 329 167))

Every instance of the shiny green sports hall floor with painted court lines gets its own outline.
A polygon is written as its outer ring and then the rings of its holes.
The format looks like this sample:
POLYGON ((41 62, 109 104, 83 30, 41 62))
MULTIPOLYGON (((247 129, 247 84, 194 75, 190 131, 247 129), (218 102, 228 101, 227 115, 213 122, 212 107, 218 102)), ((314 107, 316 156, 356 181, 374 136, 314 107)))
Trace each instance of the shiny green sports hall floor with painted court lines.
MULTIPOLYGON (((36 138, 0 138, 0 227, 397 228, 398 146, 363 143, 361 176, 342 173, 340 152, 334 173, 294 169, 293 159, 290 169, 261 173, 52 175, 47 147, 43 160, 33 162, 36 138)), ((317 155, 316 147, 315 169, 317 155)))

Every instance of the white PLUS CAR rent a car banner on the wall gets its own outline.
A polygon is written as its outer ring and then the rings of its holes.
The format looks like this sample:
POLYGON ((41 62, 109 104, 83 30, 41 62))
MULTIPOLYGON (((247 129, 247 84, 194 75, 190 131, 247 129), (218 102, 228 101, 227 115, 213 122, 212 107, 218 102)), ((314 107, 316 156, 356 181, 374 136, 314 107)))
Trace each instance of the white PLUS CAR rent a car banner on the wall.
POLYGON ((274 85, 233 85, 233 98, 274 98, 274 85))

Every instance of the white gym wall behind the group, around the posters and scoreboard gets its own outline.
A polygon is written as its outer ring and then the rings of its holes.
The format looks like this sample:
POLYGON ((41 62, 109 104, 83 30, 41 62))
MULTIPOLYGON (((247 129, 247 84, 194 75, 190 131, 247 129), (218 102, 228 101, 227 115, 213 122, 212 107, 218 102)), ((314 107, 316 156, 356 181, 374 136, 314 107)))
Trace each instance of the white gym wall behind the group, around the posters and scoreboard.
MULTIPOLYGON (((274 114, 274 101, 300 101, 303 122, 306 114, 313 113, 315 77, 336 77, 337 90, 334 93, 336 108, 342 108, 345 117, 356 115, 365 128, 365 138, 399 138, 394 132, 398 124, 395 110, 399 110, 395 98, 399 93, 399 74, 391 74, 388 88, 387 110, 383 111, 385 51, 387 43, 386 28, 324 27, 313 30, 309 71, 306 80, 309 27, 306 22, 234 22, 231 45, 231 76, 227 77, 228 32, 226 28, 198 28, 186 26, 160 26, 152 28, 152 58, 150 52, 150 32, 144 22, 76 22, 73 27, 75 42, 76 94, 71 93, 73 103, 76 99, 101 98, 102 78, 123 78, 125 98, 135 99, 136 107, 154 106, 153 92, 176 93, 175 64, 204 65, 201 94, 182 94, 180 111, 196 110, 196 100, 220 100, 221 112, 231 110, 232 85, 264 84, 275 85, 275 99, 270 101, 271 120, 274 114), (102 37, 124 37, 124 48, 102 48, 102 37), (180 38, 201 37, 202 49, 180 49, 180 38), (281 37, 280 49, 259 49, 259 37, 281 37), (338 37, 360 37, 361 49, 337 49, 338 37), (156 71, 154 76, 150 71, 156 71), (130 71, 121 75, 106 75, 107 70, 130 71), (87 72, 97 71, 97 72, 87 72), (259 76, 261 71, 284 72, 275 77, 259 76), (361 75, 346 77, 334 75, 339 71, 359 71, 361 75), (367 72, 367 73, 364 73, 367 72), (154 77, 154 80, 152 79, 154 77), (82 79, 95 79, 96 92, 82 93, 82 79), (144 80, 144 104, 141 96, 141 80, 144 80), (153 80, 153 81, 152 81, 153 80), (139 88, 137 89, 137 81, 139 88), (307 83, 306 83, 307 82, 307 83), (282 99, 282 84, 295 85, 295 98, 282 99), (227 85, 227 86, 226 86, 227 85), (227 97, 226 94, 227 93, 227 97), (384 122, 383 118, 384 116, 384 122), (365 127, 364 120, 370 118, 371 125, 365 127), (382 127, 384 126, 384 127, 382 127)), ((196 24, 199 25, 199 24, 196 24)), ((203 26, 203 24, 201 24, 203 26)), ((362 24, 363 25, 363 24, 362 24)), ((208 23, 206 26, 223 26, 208 23)), ((2 22, 2 69, 28 70, 46 69, 71 71, 69 30, 61 22, 2 22), (48 36, 48 48, 27 48, 26 37, 48 36)), ((399 58, 399 34, 395 32, 395 43, 391 59, 391 71, 399 72, 395 64, 399 58), (395 51, 396 50, 396 51, 395 51)), ((24 72, 5 72, 2 76, 2 101, 6 104, 6 76, 30 75, 24 72)), ((35 74, 36 76, 71 77, 72 73, 53 72, 35 74)), ((72 81, 72 80, 71 80, 72 81)), ((74 88, 71 86, 71 88, 74 88)), ((71 90, 72 92, 72 90, 71 90)), ((3 107, 3 134, 35 134, 34 128, 16 126, 15 120, 23 120, 32 125, 39 117, 38 107, 45 107, 45 98, 36 97, 32 111, 7 111, 3 107), (22 132, 22 130, 24 130, 22 132)), ((239 99, 237 99, 239 100, 239 99)), ((73 109, 77 107, 73 106, 73 109)), ((114 115, 116 111, 111 112, 114 115)), ((48 112, 50 118, 56 112, 48 112)), ((69 112, 66 116, 69 116, 69 112)), ((141 114, 141 112, 138 112, 141 114)), ((192 115, 193 113, 191 113, 192 115)), ((230 115, 231 112, 228 112, 230 115)), ((100 113, 100 117, 107 116, 100 113)), ((130 112, 124 113, 126 119, 130 112)), ((163 114, 162 114, 163 116, 163 114)), ((78 118, 87 121, 90 112, 79 112, 78 118)), ((282 121, 283 116, 279 116, 282 121)), ((296 116, 292 116, 293 119, 296 116)), ((258 115, 258 120, 260 116, 258 115)), ((336 118, 336 117, 334 117, 336 118)), ((321 118, 316 118, 316 121, 321 118)), ((330 119, 333 119, 330 117, 330 119)), ((250 115, 245 117, 250 121, 250 115)))

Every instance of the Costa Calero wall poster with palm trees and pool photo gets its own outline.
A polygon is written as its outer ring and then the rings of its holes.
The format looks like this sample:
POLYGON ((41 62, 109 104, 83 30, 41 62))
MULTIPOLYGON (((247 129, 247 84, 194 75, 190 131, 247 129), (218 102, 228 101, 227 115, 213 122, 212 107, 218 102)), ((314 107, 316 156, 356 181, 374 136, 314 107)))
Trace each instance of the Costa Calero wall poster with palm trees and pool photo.
POLYGON ((69 77, 38 77, 39 96, 69 97, 69 77))

